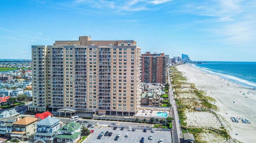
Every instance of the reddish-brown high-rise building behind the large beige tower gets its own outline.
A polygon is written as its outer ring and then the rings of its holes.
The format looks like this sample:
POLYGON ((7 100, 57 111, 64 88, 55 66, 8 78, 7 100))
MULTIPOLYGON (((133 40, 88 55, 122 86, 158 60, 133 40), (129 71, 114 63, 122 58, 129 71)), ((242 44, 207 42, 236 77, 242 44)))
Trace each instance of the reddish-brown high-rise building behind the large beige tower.
POLYGON ((166 83, 167 56, 164 53, 146 52, 141 54, 141 81, 146 83, 166 83))

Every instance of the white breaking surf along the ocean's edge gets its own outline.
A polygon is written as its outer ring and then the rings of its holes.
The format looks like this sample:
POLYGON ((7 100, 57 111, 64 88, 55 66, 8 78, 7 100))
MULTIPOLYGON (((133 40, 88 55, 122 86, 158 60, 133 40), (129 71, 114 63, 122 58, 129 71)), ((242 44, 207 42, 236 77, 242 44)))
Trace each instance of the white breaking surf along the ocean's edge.
POLYGON ((235 76, 230 76, 230 75, 221 74, 221 73, 218 73, 218 72, 213 72, 213 71, 208 70, 208 68, 201 68, 201 67, 198 67, 194 64, 191 64, 190 66, 194 67, 196 69, 199 69, 201 71, 205 71, 205 72, 208 72, 208 73, 211 73, 211 74, 215 74, 217 76, 221 76, 222 78, 224 78, 226 80, 233 81, 233 82, 238 83, 240 85, 245 85, 247 87, 256 87, 256 83, 252 83, 250 81, 247 81, 247 80, 244 80, 244 79, 241 79, 241 78, 237 78, 235 76))

